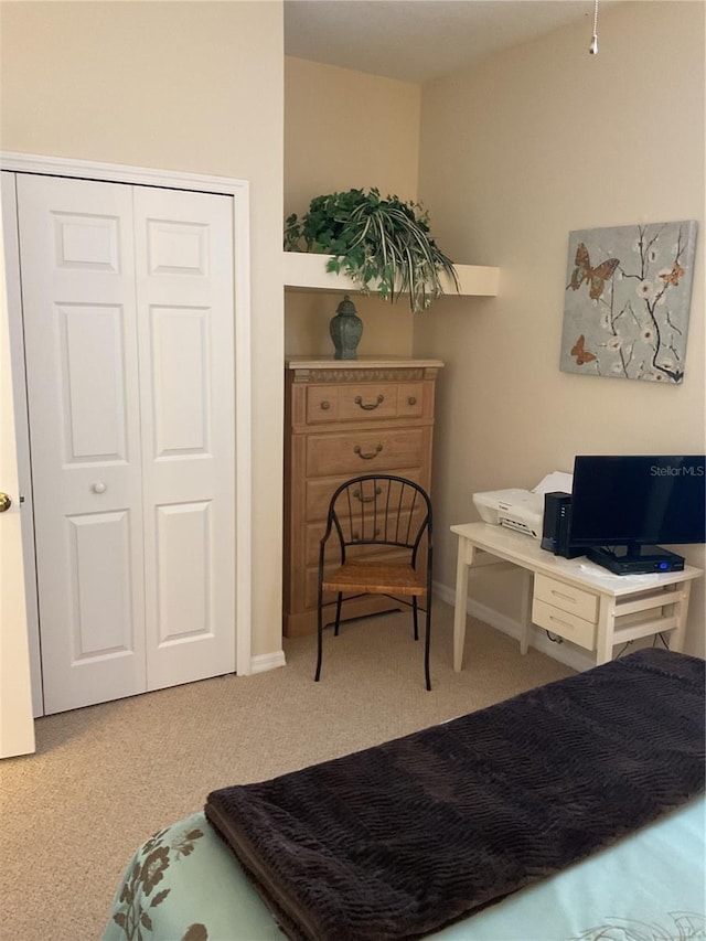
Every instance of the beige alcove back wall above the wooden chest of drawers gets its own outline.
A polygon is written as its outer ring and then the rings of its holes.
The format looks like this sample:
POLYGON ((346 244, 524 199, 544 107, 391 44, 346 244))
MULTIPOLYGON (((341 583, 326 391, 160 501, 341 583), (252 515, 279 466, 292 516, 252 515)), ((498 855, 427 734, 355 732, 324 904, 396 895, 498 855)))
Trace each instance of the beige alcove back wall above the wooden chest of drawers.
MULTIPOLYGON (((314 196, 377 186, 417 199, 418 85, 301 58, 285 60, 285 212, 301 216, 314 196)), ((329 321, 342 296, 288 292, 288 356, 331 356, 329 321)), ((414 319, 405 302, 355 297, 359 355, 409 355, 414 319)))

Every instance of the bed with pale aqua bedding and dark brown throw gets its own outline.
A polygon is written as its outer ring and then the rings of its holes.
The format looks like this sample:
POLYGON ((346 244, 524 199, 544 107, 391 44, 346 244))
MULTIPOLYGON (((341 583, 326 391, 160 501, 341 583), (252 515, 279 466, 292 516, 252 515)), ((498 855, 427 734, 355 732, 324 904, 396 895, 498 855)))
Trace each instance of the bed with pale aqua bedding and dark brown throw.
POLYGON ((703 939, 704 662, 644 650, 154 834, 104 941, 703 939))

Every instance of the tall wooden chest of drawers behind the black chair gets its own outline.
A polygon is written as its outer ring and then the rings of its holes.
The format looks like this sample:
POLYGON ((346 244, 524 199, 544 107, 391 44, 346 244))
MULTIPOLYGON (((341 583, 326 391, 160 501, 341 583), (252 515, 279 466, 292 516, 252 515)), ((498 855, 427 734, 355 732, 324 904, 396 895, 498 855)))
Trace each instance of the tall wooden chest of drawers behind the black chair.
MULTIPOLYGON (((286 637, 317 629, 317 566, 329 501, 361 473, 431 482, 438 360, 292 360, 287 364, 285 428, 286 637)), ((351 601, 345 617, 389 608, 351 601)))

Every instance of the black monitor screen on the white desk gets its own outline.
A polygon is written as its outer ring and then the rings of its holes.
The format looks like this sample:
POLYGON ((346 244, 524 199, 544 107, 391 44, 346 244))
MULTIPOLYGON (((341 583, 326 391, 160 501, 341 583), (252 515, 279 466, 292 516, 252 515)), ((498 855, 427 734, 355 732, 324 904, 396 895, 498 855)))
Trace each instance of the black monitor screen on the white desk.
POLYGON ((570 541, 576 546, 706 542, 706 458, 577 456, 570 541))

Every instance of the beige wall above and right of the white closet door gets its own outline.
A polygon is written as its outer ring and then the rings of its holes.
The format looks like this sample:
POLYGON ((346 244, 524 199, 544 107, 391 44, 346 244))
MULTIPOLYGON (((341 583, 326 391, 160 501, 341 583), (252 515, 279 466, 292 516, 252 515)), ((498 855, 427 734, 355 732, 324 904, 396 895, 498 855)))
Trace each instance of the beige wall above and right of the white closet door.
POLYGON ((250 183, 253 653, 281 648, 280 2, 3 2, 2 149, 250 183))

